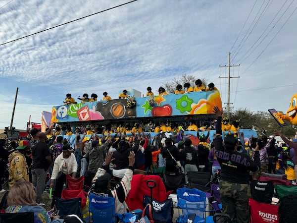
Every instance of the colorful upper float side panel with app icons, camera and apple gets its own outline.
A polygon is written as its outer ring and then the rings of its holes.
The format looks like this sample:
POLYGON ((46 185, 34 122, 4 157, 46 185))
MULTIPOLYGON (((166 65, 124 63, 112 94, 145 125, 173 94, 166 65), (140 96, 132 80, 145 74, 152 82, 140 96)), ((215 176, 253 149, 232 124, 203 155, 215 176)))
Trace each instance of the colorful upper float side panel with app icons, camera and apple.
POLYGON ((133 108, 128 108, 127 100, 124 99, 54 106, 51 122, 213 114, 213 107, 222 109, 219 91, 170 94, 134 100, 136 106, 133 108))

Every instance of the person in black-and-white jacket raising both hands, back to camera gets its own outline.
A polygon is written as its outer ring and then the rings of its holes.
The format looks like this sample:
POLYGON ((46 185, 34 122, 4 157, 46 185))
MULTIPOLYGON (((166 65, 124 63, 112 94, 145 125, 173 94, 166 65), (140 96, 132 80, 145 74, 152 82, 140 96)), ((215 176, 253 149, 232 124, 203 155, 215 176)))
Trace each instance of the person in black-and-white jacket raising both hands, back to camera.
POLYGON ((108 153, 105 157, 105 166, 98 169, 94 179, 90 193, 94 193, 102 197, 114 197, 115 199, 115 212, 118 214, 127 213, 127 204, 125 199, 131 189, 131 180, 134 171, 135 154, 133 151, 129 154, 129 167, 124 173, 122 180, 115 186, 110 186, 111 175, 108 173, 109 164, 113 161, 112 153, 108 153))

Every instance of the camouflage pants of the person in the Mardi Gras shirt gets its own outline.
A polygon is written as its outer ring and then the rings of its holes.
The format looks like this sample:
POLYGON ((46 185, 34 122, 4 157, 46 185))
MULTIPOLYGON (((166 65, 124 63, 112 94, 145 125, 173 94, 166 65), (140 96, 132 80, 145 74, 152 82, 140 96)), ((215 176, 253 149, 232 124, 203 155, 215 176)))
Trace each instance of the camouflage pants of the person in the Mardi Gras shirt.
POLYGON ((223 212, 230 216, 231 223, 248 223, 249 185, 221 180, 220 194, 223 212))

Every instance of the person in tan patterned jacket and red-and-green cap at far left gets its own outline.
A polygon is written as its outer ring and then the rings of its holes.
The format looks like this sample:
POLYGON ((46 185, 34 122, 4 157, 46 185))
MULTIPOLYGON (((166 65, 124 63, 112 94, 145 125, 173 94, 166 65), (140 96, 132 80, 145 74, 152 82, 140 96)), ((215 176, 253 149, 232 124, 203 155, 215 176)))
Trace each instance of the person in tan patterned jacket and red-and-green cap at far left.
POLYGON ((25 156, 31 155, 31 147, 27 140, 22 140, 16 150, 8 157, 9 166, 9 189, 17 181, 29 182, 29 168, 25 156))

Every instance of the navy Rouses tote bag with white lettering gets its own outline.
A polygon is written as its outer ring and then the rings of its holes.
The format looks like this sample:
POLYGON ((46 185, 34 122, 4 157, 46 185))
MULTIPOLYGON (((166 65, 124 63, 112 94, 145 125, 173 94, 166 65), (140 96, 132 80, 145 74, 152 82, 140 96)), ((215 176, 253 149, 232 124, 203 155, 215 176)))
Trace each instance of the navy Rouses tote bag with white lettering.
MULTIPOLYGON (((149 220, 149 209, 147 204, 150 204, 150 197, 144 195, 143 207, 145 208, 144 212, 149 220)), ((152 199, 152 218, 155 223, 172 223, 173 217, 173 204, 172 199, 166 199, 163 202, 158 202, 155 199, 152 199)))

